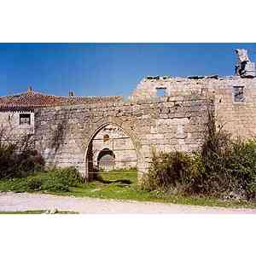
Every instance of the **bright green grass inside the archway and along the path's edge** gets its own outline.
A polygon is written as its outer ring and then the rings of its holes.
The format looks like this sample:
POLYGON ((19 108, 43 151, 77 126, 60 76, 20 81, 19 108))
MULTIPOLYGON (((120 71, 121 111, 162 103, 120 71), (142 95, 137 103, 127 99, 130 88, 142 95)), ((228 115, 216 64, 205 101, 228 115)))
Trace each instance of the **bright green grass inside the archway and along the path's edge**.
MULTIPOLYGON (((0 191, 9 191, 10 183, 0 181, 0 191)), ((32 191, 28 191, 32 192, 32 191)), ((199 196, 183 196, 164 194, 160 191, 143 191, 137 185, 136 169, 113 170, 100 175, 100 177, 90 183, 84 183, 78 187, 71 187, 68 192, 48 192, 53 195, 73 195, 77 197, 94 197, 102 199, 130 200, 130 201, 154 201, 165 203, 176 203, 184 205, 198 205, 210 207, 247 207, 256 208, 254 201, 221 201, 215 198, 199 196), (115 173, 119 172, 119 173, 115 173), (130 172, 130 173, 124 173, 130 172)), ((37 212, 37 211, 36 211, 37 212)))

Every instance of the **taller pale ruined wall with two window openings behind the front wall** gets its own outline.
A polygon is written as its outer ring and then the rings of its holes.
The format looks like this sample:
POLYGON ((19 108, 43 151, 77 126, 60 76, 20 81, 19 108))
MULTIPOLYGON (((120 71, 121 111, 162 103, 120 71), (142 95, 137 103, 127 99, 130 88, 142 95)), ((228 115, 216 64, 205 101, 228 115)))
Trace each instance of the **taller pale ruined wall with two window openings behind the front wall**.
POLYGON ((256 135, 256 79, 240 77, 218 78, 160 78, 143 79, 133 91, 131 100, 152 100, 157 90, 165 89, 166 99, 200 95, 215 96, 214 105, 218 125, 230 131, 234 137, 253 137, 256 135), (239 94, 243 94, 239 95, 239 94), (236 99, 238 94, 238 99, 236 99), (240 97, 240 99, 239 99, 240 97), (243 98, 243 99, 242 99, 243 98))

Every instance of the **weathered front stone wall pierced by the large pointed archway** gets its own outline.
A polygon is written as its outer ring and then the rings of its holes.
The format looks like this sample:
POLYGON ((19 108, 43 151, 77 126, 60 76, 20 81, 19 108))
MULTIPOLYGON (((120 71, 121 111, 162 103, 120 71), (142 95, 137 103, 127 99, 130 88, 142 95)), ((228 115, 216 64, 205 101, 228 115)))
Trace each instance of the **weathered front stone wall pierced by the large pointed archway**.
POLYGON ((107 125, 118 125, 137 153, 139 173, 146 172, 151 150, 198 148, 207 116, 206 95, 142 101, 42 108, 35 111, 36 148, 48 165, 77 166, 88 176, 91 141, 107 125))

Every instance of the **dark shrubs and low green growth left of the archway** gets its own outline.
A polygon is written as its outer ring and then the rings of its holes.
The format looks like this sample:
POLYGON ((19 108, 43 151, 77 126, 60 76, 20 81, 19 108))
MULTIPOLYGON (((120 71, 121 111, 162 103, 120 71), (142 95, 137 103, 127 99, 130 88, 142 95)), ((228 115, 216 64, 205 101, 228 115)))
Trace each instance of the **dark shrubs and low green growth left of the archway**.
POLYGON ((45 168, 44 159, 32 149, 33 144, 31 135, 11 140, 7 131, 0 131, 1 191, 69 191, 83 182, 72 166, 45 168))

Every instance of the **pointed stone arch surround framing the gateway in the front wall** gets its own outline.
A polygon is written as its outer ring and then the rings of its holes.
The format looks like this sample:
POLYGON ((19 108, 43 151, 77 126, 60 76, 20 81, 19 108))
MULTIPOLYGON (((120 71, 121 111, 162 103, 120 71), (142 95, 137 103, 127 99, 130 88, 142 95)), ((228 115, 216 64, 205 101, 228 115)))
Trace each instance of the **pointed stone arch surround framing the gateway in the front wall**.
MULTIPOLYGON (((116 125, 125 134, 131 138, 131 142, 135 148, 137 154, 137 169, 138 173, 145 172, 145 162, 143 154, 141 153, 141 142, 140 138, 137 136, 136 132, 132 130, 130 125, 127 125, 121 119, 116 117, 108 116, 106 118, 99 119, 96 123, 93 124, 93 127, 90 129, 90 134, 86 136, 84 140, 84 160, 85 160, 85 170, 84 170, 84 177, 87 181, 91 180, 93 177, 90 176, 90 172, 93 169, 93 160, 92 160, 92 141, 96 134, 101 131, 107 125, 116 125)), ((141 175, 139 174, 139 177, 141 175)))

